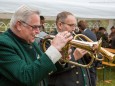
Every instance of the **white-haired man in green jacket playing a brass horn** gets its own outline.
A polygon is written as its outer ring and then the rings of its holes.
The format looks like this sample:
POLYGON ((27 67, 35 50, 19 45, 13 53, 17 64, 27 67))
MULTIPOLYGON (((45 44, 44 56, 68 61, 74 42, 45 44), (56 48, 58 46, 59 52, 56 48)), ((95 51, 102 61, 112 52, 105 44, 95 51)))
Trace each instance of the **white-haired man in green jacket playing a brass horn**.
POLYGON ((56 71, 61 49, 73 37, 67 31, 52 40, 45 53, 34 42, 40 25, 39 11, 21 6, 0 34, 0 86, 47 86, 45 78, 56 71))

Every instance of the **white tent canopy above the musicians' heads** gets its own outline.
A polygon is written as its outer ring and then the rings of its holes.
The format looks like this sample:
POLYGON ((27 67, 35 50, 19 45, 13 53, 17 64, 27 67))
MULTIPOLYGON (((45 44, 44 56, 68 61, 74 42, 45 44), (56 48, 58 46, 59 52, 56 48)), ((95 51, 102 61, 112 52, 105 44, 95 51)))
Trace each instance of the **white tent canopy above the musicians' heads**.
POLYGON ((44 16, 69 11, 79 18, 115 19, 115 0, 0 0, 0 13, 14 13, 23 4, 38 8, 44 16))

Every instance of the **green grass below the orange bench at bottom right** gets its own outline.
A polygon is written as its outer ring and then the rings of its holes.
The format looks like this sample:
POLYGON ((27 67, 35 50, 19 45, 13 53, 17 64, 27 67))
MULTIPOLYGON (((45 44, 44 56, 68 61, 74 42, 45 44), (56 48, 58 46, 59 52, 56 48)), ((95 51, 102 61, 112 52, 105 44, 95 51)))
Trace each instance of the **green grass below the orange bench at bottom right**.
POLYGON ((97 70, 97 86, 115 86, 115 68, 105 67, 97 70), (107 82, 111 80, 110 82, 107 82))

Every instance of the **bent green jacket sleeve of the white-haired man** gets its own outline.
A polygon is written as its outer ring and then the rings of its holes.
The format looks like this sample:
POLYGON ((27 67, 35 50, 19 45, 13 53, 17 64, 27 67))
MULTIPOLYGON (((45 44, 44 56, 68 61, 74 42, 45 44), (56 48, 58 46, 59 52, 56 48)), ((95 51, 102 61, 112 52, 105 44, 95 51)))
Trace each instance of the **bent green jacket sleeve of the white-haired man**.
POLYGON ((31 64, 27 64, 17 54, 13 44, 0 41, 0 74, 9 81, 35 86, 51 71, 56 71, 56 67, 45 53, 31 64))

